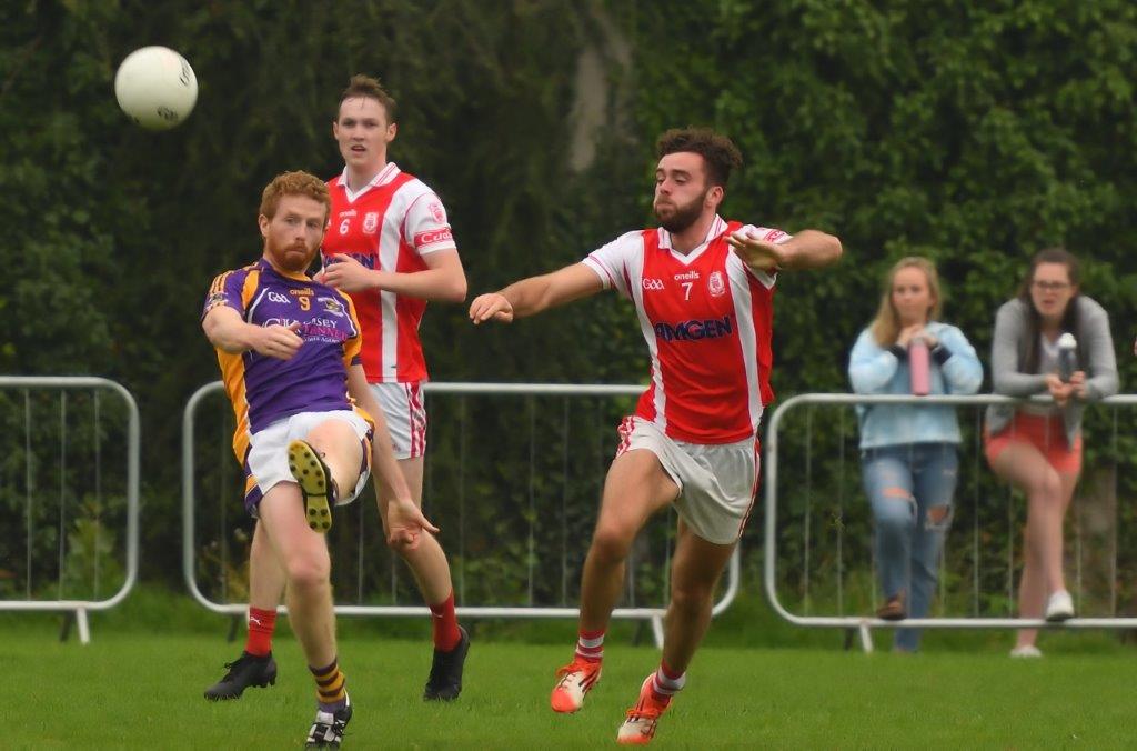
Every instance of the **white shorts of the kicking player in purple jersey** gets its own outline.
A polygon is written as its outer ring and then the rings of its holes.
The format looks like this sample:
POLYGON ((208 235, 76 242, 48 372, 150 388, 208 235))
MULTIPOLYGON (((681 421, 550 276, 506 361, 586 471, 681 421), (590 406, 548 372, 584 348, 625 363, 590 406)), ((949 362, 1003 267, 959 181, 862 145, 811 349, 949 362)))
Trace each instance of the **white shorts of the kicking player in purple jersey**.
POLYGON ((346 494, 340 490, 335 505, 351 503, 367 485, 371 477, 371 423, 350 410, 335 412, 300 412, 283 418, 264 430, 252 434, 249 453, 244 457, 244 507, 254 517, 260 500, 279 482, 296 482, 288 468, 288 445, 305 438, 312 429, 327 420, 341 420, 351 426, 363 444, 363 464, 359 480, 346 494))

